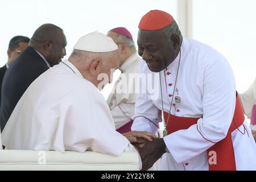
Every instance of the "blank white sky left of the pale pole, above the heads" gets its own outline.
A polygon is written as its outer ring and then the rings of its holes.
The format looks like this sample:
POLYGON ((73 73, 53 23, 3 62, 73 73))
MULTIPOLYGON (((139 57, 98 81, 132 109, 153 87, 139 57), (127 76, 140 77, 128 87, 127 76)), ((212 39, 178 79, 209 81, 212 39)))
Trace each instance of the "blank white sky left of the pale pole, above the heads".
MULTIPOLYGON (((159 9, 176 16, 176 0, 12 0, 0 1, 0 66, 7 61, 10 39, 16 35, 28 36, 41 24, 53 23, 63 28, 67 37, 67 56, 80 36, 92 31, 106 34, 114 27, 126 27, 137 42, 138 24, 150 10, 159 9)), ((116 72, 114 78, 118 77, 116 72)), ((112 85, 102 90, 104 97, 112 85)))

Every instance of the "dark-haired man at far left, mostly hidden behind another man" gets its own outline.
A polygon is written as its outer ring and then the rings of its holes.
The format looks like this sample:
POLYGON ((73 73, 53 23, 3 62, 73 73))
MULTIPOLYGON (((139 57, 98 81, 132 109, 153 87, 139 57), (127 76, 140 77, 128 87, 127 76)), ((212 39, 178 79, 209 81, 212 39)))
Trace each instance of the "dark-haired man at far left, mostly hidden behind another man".
POLYGON ((27 44, 29 41, 30 39, 26 36, 15 36, 10 40, 7 51, 7 63, 2 68, 0 68, 0 105, 3 76, 5 76, 5 72, 9 68, 10 64, 13 63, 13 61, 20 55, 20 53, 27 48, 27 44))

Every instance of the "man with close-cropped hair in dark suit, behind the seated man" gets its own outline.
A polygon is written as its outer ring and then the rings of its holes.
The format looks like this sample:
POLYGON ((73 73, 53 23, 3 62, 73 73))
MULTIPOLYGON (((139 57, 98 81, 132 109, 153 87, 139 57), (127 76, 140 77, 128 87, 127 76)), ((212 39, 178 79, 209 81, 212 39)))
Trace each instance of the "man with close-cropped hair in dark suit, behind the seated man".
POLYGON ((59 64, 66 55, 65 35, 54 24, 43 24, 32 36, 28 47, 7 69, 2 83, 1 131, 28 86, 43 72, 59 64))

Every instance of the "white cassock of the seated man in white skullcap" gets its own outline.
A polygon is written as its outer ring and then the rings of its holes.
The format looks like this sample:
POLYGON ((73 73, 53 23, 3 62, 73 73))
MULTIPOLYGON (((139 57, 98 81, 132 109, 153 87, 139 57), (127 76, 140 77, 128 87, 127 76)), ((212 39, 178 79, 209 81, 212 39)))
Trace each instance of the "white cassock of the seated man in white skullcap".
POLYGON ((109 107, 96 86, 71 62, 63 62, 39 76, 20 98, 3 130, 3 145, 61 152, 90 148, 109 155, 137 151, 115 131, 109 107))

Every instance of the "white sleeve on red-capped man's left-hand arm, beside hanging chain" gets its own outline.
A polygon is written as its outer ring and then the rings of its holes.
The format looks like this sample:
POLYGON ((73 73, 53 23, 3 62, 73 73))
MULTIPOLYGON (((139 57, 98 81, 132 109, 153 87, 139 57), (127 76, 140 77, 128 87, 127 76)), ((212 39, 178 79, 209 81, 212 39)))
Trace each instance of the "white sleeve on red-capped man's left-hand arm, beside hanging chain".
MULTIPOLYGON (((139 64, 139 75, 143 73, 141 69, 142 63, 139 64)), ((139 94, 135 104, 134 122, 131 130, 148 131, 155 134, 158 129, 158 123, 162 122, 161 111, 150 100, 150 94, 148 94, 146 85, 144 85, 142 79, 139 79, 138 83, 139 94)))

